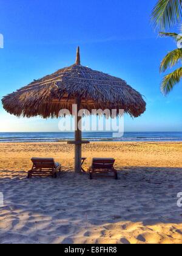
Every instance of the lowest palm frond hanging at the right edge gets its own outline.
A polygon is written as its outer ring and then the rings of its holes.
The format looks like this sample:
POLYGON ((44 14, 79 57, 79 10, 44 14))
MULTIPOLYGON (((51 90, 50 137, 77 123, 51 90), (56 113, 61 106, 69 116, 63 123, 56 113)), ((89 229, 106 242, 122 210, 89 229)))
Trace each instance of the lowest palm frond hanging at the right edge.
POLYGON ((174 88, 174 86, 180 82, 181 77, 182 68, 178 68, 174 72, 164 76, 164 79, 161 82, 162 93, 167 95, 174 88))

